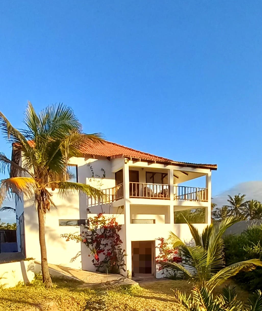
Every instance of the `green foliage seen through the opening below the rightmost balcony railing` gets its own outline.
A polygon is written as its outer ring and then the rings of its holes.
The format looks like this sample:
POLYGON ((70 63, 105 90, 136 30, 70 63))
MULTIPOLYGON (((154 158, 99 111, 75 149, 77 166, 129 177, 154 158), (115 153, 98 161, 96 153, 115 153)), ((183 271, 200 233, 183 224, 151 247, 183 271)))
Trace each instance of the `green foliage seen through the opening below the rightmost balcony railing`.
POLYGON ((204 224, 206 222, 206 213, 204 208, 195 208, 191 210, 174 212, 175 223, 184 224, 185 219, 190 224, 204 224))

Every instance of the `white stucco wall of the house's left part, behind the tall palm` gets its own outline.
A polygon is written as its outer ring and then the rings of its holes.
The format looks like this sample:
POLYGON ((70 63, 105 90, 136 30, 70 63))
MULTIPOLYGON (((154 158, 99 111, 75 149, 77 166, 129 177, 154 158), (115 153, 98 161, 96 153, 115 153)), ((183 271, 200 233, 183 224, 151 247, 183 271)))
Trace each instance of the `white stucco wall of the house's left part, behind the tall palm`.
MULTIPOLYGON (((71 164, 78 166, 78 182, 87 183, 96 188, 106 189, 115 186, 115 173, 111 172, 111 162, 107 159, 84 159, 72 158, 71 164), (91 166, 88 165, 91 163, 91 166), (101 179, 98 176, 103 175, 105 170, 106 178, 101 179), (93 170, 94 173, 91 172, 93 170), (93 178, 92 175, 96 178, 93 178), (98 176, 97 176, 98 175, 98 176)), ((74 220, 88 219, 95 216, 97 213, 115 213, 119 224, 124 224, 123 210, 119 208, 107 206, 96 206, 90 208, 91 214, 87 213, 87 197, 71 193, 67 197, 58 195, 58 191, 52 191, 52 200, 56 207, 51 207, 50 211, 45 216, 45 241, 47 248, 47 258, 49 263, 64 265, 67 267, 79 268, 84 270, 94 271, 94 266, 91 263, 91 257, 88 257, 88 249, 82 243, 75 241, 66 241, 61 238, 61 234, 77 233, 80 234, 81 227, 79 226, 59 226, 59 219, 74 220), (121 214, 122 213, 122 214, 121 214), (79 255, 79 256, 77 256, 79 255), (77 256, 73 261, 72 259, 77 256)), ((26 200, 24 203, 25 215, 25 240, 26 240, 26 257, 32 257, 36 260, 41 260, 40 245, 38 236, 38 218, 37 211, 33 200, 26 200)), ((124 232, 124 231, 123 231, 124 232)), ((121 233, 121 238, 123 237, 121 233)))

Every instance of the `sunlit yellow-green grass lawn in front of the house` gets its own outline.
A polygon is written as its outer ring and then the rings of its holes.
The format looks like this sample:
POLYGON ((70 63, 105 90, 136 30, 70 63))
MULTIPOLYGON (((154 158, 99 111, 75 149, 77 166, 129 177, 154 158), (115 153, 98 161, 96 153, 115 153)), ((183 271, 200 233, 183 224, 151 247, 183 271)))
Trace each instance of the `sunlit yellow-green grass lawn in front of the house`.
MULTIPOLYGON (((131 288, 81 289, 80 283, 55 279, 55 288, 46 290, 40 280, 0 290, 0 310, 41 311, 179 311, 171 288, 187 293, 191 286, 186 281, 155 281, 131 288)), ((220 289, 217 289, 219 292, 220 289)), ((248 293, 237 287, 239 299, 246 301, 248 293)))

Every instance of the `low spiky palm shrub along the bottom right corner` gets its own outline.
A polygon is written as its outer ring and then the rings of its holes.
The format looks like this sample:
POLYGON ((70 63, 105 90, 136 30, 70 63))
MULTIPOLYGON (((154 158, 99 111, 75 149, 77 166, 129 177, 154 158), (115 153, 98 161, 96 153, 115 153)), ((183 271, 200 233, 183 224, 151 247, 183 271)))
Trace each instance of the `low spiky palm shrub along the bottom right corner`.
POLYGON ((194 287, 189 297, 174 290, 175 299, 188 311, 262 311, 262 293, 256 290, 243 305, 237 299, 235 288, 223 288, 222 294, 214 296, 207 287, 194 287))

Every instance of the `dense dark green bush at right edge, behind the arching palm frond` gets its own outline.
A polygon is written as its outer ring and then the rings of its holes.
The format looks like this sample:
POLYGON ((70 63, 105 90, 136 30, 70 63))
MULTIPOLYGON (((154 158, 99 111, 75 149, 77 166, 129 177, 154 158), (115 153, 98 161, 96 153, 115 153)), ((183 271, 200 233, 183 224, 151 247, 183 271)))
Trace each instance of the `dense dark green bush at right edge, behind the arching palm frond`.
MULTIPOLYGON (((227 235, 224 237, 225 260, 230 265, 237 261, 253 258, 262 259, 262 225, 252 226, 240 235, 227 235)), ((262 290, 262 268, 255 271, 240 272, 235 276, 237 282, 247 290, 262 290)))

